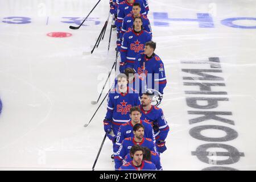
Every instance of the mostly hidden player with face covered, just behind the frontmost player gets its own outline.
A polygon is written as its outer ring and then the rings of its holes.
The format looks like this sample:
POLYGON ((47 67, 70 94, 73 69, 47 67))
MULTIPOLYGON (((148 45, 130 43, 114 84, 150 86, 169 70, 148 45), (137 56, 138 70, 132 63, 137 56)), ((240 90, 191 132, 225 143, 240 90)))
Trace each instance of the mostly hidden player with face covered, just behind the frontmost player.
MULTIPOLYGON (((160 162, 160 155, 157 152, 150 151, 147 147, 142 147, 143 149, 143 160, 148 160, 155 164, 156 169, 159 171, 163 170, 162 164, 160 162)), ((123 160, 123 164, 131 162, 133 159, 131 158, 130 153, 125 156, 123 160)))

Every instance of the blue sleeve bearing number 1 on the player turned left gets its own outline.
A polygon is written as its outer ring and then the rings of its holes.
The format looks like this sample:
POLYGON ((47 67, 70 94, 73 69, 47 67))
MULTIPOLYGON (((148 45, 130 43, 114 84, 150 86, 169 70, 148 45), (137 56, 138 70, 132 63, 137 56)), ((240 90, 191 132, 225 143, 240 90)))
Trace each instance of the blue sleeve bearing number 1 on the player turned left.
POLYGON ((164 65, 163 62, 160 60, 158 56, 155 56, 156 64, 154 68, 155 73, 155 88, 157 88, 156 85, 158 85, 158 91, 163 94, 163 90, 166 87, 167 80, 166 80, 166 73, 164 71, 164 65))

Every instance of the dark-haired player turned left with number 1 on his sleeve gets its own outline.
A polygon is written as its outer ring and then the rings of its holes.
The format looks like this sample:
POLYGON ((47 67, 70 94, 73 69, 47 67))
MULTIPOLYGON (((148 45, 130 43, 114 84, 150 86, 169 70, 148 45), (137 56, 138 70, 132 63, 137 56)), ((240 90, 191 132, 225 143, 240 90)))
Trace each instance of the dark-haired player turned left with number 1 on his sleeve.
POLYGON ((144 53, 137 55, 135 70, 139 75, 146 76, 147 88, 158 90, 163 94, 166 87, 166 73, 164 64, 158 55, 154 53, 155 42, 147 42, 144 47, 144 53))

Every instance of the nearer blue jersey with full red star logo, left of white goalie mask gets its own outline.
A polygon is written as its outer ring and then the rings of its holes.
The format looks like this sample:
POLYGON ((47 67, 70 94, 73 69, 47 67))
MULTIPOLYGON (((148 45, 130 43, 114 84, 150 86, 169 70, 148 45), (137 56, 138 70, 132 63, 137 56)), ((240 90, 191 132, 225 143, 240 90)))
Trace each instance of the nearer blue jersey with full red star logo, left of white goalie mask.
POLYGON ((108 97, 108 111, 106 113, 105 119, 107 121, 112 121, 113 125, 120 126, 125 122, 130 121, 130 109, 133 106, 138 106, 141 104, 141 98, 139 97, 138 92, 133 90, 133 93, 130 93, 127 88, 127 93, 120 93, 118 89, 114 89, 109 93, 108 97))

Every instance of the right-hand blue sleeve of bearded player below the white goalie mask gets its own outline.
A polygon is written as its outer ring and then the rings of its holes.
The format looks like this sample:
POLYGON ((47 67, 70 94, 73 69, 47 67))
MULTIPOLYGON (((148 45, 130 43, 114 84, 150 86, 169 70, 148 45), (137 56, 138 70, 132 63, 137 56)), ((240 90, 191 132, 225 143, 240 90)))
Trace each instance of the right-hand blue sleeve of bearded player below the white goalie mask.
POLYGON ((158 140, 166 140, 166 137, 168 135, 168 132, 169 132, 170 128, 168 126, 166 118, 164 117, 164 113, 163 113, 162 109, 159 109, 159 117, 156 120, 156 122, 158 123, 158 127, 159 127, 159 130, 160 130, 158 140))

